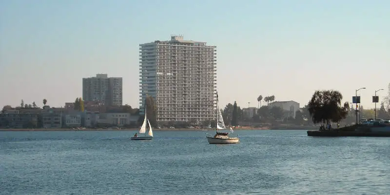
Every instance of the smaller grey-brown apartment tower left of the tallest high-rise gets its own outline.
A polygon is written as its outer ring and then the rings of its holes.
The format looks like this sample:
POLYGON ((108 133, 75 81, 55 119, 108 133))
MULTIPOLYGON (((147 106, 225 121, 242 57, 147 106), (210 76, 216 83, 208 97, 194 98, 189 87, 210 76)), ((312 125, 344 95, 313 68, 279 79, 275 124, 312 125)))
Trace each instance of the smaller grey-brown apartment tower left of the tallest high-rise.
POLYGON ((99 101, 109 106, 122 105, 122 78, 97 74, 82 79, 83 101, 99 101))

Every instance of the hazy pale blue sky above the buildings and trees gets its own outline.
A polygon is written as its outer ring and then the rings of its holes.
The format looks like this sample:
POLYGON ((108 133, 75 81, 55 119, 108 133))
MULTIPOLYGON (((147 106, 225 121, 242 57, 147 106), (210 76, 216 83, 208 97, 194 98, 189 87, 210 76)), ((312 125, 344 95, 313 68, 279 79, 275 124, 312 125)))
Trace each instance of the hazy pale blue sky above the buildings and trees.
POLYGON ((123 77, 138 107, 138 44, 172 34, 217 49, 220 106, 257 97, 307 104, 355 89, 364 108, 390 83, 388 0, 0 0, 0 106, 64 106, 82 78, 123 77))

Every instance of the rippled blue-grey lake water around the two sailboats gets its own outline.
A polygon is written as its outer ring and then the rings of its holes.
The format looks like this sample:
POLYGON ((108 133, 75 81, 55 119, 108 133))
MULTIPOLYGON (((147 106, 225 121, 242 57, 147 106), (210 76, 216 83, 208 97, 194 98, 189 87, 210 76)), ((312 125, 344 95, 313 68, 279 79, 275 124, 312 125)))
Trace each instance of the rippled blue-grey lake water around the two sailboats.
POLYGON ((213 145, 205 132, 0 132, 0 194, 390 194, 390 138, 241 130, 241 143, 213 145))

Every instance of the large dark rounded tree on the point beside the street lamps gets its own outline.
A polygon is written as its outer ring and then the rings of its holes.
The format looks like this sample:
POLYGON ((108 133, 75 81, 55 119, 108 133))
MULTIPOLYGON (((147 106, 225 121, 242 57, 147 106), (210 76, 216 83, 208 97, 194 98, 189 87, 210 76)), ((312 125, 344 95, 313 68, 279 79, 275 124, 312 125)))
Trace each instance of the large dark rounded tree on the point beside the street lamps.
POLYGON ((315 91, 310 100, 309 113, 314 124, 340 122, 347 117, 348 102, 341 105, 343 95, 336 90, 315 91))

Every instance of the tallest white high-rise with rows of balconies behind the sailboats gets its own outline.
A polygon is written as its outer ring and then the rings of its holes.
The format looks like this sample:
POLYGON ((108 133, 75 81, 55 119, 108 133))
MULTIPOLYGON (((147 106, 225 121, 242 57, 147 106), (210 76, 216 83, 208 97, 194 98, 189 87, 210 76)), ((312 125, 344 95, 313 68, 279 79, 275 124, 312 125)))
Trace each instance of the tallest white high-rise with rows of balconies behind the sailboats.
POLYGON ((215 46, 171 36, 139 47, 141 113, 150 95, 159 122, 215 120, 215 46))

